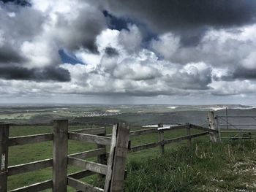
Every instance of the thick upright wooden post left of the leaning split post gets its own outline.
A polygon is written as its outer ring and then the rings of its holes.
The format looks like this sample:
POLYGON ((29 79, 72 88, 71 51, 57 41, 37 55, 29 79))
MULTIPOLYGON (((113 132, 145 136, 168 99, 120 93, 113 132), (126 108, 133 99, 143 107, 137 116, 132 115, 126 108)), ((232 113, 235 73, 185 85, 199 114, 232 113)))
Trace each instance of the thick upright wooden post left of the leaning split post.
POLYGON ((67 191, 68 120, 53 121, 53 192, 67 191))

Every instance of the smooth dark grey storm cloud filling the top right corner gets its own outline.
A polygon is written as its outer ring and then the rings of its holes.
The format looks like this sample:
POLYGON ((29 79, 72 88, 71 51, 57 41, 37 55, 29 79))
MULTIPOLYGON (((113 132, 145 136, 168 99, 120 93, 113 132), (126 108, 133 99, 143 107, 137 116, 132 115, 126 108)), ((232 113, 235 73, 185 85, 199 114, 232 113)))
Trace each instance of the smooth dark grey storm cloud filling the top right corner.
POLYGON ((181 43, 194 45, 207 27, 230 28, 255 21, 252 0, 108 0, 111 13, 142 20, 154 31, 173 31, 181 43))

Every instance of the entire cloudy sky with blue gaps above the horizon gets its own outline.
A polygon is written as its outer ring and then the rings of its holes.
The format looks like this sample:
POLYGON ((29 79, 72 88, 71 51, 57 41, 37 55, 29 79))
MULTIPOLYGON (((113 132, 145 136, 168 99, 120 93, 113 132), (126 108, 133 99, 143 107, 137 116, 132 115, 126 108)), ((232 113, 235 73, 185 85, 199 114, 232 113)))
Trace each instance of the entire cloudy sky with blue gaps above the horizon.
POLYGON ((0 103, 255 104, 255 0, 0 0, 0 103))

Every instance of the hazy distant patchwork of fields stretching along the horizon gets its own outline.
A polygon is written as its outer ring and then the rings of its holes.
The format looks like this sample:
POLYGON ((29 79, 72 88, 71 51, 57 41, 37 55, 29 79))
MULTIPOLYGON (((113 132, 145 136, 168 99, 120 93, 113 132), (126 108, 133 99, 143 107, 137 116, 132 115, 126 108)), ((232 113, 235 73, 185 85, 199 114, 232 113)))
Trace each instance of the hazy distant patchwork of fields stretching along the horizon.
MULTIPOLYGON (((53 119, 67 118, 70 123, 108 126, 113 123, 127 122, 132 126, 155 123, 194 123, 207 126, 207 112, 225 115, 223 105, 209 106, 168 106, 168 105, 72 105, 39 107, 0 107, 0 122, 15 124, 44 124, 53 119)), ((255 107, 240 105, 229 106, 228 115, 256 115, 255 107)), ((229 119, 229 123, 236 120, 229 119)), ((256 124, 254 118, 246 123, 256 124)), ((255 127, 256 128, 256 127, 255 127)))

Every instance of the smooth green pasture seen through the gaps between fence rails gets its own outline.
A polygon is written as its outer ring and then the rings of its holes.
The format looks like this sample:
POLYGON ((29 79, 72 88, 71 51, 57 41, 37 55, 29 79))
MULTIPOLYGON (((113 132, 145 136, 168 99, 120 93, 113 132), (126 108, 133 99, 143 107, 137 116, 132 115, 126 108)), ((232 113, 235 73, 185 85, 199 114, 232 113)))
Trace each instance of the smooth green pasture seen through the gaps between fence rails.
MULTIPOLYGON (((69 129, 78 129, 78 128, 89 128, 88 126, 70 126, 69 129)), ((140 127, 131 127, 131 130, 139 129, 140 127)), ((107 127, 108 133, 112 130, 111 127, 107 127)), ((13 126, 10 128, 10 137, 17 137, 29 134, 44 134, 52 132, 51 126, 13 126)), ((196 132, 196 131, 195 131, 196 132)), ((166 138, 173 138, 187 134, 186 130, 177 130, 177 131, 167 131, 165 134, 166 138)), ((133 137, 132 146, 140 145, 147 142, 157 141, 158 134, 148 134, 146 136, 133 137)), ((178 145, 187 144, 187 142, 181 142, 179 144, 167 145, 166 148, 177 147, 178 145)), ((82 152, 85 150, 95 149, 96 145, 69 141, 69 154, 82 152)), ((14 146, 9 148, 9 166, 16 164, 25 164, 31 161, 39 161, 45 158, 52 158, 52 142, 42 142, 31 145, 23 146, 14 146)), ((159 147, 156 147, 151 150, 143 150, 137 153, 129 154, 128 161, 136 160, 146 160, 150 157, 154 157, 159 154, 159 147)), ((90 161, 96 161, 96 158, 90 158, 90 161)), ((69 173, 76 172, 80 169, 76 167, 69 166, 69 173)), ((51 169, 41 169, 35 172, 28 172, 24 174, 17 174, 11 177, 8 177, 8 188, 11 190, 13 188, 19 188, 24 185, 30 185, 32 183, 37 183, 43 180, 48 180, 51 178, 51 169)), ((87 177, 85 180, 88 183, 95 183, 95 176, 87 177)), ((69 191, 72 191, 69 188, 69 191)))

